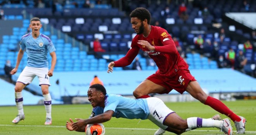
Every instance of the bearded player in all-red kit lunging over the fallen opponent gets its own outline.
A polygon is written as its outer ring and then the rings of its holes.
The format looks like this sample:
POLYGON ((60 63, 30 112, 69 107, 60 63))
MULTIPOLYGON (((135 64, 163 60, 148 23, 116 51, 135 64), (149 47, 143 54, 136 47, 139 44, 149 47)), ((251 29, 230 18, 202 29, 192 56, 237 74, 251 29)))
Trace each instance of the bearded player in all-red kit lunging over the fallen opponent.
MULTIPOLYGON (((134 91, 136 98, 148 98, 151 93, 168 94, 175 89, 180 94, 187 91, 204 105, 209 105, 221 114, 227 115, 235 122, 237 133, 245 133, 246 119, 233 113, 220 100, 206 95, 199 83, 190 74, 189 66, 180 57, 168 32, 150 25, 151 15, 145 8, 136 8, 130 14, 132 28, 137 35, 133 38, 131 49, 118 61, 110 62, 108 73, 113 67, 125 67, 131 64, 140 49, 146 52, 155 62, 158 70, 145 79, 134 91)), ((156 135, 164 133, 159 129, 156 135)))

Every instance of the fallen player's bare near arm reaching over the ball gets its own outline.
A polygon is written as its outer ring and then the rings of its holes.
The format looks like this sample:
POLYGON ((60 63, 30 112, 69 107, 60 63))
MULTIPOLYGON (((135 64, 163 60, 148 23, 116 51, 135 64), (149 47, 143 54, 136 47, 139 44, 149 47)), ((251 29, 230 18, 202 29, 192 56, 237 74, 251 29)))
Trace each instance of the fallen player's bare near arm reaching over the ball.
POLYGON ((76 130, 78 128, 85 127, 87 124, 107 122, 107 121, 111 120, 113 113, 114 113, 114 111, 108 110, 108 111, 105 111, 105 113, 102 113, 100 115, 94 116, 94 117, 86 119, 86 120, 76 119, 76 120, 78 120, 78 122, 75 122, 71 125, 72 125, 72 128, 74 130, 76 130))

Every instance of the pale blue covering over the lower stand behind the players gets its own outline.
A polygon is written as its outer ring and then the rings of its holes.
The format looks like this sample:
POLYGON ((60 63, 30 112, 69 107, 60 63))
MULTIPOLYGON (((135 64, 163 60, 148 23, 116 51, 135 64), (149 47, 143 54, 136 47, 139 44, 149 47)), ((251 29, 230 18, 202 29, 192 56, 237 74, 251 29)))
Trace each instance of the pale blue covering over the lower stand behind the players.
MULTIPOLYGON (((207 89, 209 93, 256 92, 256 79, 246 74, 232 69, 195 70, 191 69, 191 67, 192 66, 189 66, 190 73, 195 76, 195 79, 197 79, 201 87, 207 89)), ((52 86, 49 87, 49 91, 53 99, 59 99, 60 94, 61 96, 86 96, 90 82, 93 77, 97 75, 100 80, 103 81, 108 93, 132 95, 133 90, 144 81, 145 78, 154 74, 157 70, 156 68, 153 69, 153 67, 147 67, 147 70, 144 71, 119 71, 120 69, 121 68, 115 67, 114 72, 111 73, 111 77, 106 73, 106 67, 89 67, 84 64, 82 64, 83 71, 80 72, 55 72, 54 76, 50 78, 50 84, 52 86), (55 84, 58 79, 60 86, 55 84), (59 88, 61 88, 61 93, 59 92, 59 88)), ((16 81, 18 76, 19 73, 15 74, 13 80, 16 81)), ((27 87, 38 93, 42 93, 38 84, 39 81, 35 78, 27 87)), ((14 86, 8 89, 14 89, 14 86)), ((178 92, 173 90, 170 94, 178 94, 178 92)))

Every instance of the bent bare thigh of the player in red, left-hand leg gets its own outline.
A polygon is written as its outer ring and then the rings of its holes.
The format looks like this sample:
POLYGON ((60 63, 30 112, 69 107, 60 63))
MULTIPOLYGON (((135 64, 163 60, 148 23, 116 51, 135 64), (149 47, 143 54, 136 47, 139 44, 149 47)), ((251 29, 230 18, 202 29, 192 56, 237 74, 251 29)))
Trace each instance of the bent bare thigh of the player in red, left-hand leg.
POLYGON ((152 81, 145 79, 138 87, 133 91, 135 98, 148 98, 151 93, 159 93, 166 90, 161 85, 153 83, 152 81))

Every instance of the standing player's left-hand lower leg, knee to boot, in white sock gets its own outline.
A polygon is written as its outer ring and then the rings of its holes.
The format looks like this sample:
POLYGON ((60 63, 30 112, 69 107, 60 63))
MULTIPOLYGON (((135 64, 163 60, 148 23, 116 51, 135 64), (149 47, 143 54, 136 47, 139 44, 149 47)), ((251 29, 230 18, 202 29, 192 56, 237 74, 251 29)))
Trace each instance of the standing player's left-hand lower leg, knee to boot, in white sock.
POLYGON ((16 116, 16 118, 14 118, 14 120, 12 120, 12 123, 19 123, 20 120, 24 120, 25 119, 25 115, 23 112, 23 98, 22 98, 22 89, 24 89, 26 87, 26 84, 23 84, 21 82, 17 82, 15 85, 15 102, 16 102, 16 106, 18 108, 19 114, 16 116))

